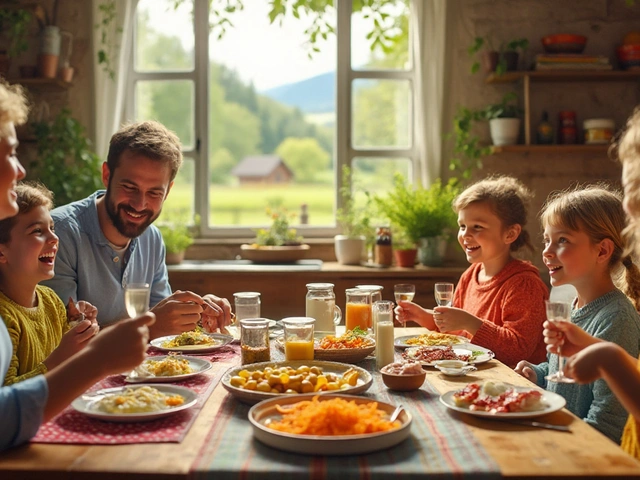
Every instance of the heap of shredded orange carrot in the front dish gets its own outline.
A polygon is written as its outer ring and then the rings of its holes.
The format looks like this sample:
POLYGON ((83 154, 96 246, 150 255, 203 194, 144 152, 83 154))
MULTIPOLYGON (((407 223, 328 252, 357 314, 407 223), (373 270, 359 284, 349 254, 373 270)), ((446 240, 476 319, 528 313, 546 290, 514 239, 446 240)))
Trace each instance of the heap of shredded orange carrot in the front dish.
POLYGON ((281 420, 270 419, 265 426, 280 432, 297 435, 362 435, 386 432, 400 428, 397 420, 378 408, 378 402, 357 404, 354 400, 331 398, 295 403, 288 407, 276 406, 281 420))

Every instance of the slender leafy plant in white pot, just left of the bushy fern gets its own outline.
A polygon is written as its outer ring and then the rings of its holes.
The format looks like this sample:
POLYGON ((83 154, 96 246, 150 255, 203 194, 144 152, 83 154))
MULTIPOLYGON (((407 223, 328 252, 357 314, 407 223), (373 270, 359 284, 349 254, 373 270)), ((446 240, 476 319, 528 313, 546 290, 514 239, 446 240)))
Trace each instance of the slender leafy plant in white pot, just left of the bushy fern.
POLYGON ((342 167, 342 187, 340 188, 342 206, 336 213, 338 225, 342 234, 334 238, 334 247, 338 263, 343 265, 358 265, 362 261, 367 244, 367 238, 372 236, 373 229, 369 216, 370 199, 365 193, 365 204, 360 206, 356 202, 356 195, 352 188, 351 169, 342 167))

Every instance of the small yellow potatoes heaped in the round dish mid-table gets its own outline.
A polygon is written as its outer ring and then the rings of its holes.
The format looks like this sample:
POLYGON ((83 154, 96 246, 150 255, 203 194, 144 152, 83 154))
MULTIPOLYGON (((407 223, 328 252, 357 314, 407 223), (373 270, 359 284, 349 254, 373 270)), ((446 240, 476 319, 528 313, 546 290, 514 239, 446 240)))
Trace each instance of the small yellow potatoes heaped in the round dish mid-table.
POLYGON ((265 393, 313 393, 345 390, 358 383, 358 371, 350 368, 342 375, 323 372, 321 367, 266 367, 264 370, 240 370, 231 377, 232 387, 265 393))

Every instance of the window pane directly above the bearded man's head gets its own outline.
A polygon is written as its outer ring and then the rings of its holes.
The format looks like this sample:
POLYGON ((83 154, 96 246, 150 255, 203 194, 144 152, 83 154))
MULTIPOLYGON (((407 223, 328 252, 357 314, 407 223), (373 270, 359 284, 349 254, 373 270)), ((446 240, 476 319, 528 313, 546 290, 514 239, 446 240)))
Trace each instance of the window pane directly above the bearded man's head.
POLYGON ((136 119, 157 120, 173 130, 185 150, 194 145, 194 92, 191 80, 136 84, 136 119))

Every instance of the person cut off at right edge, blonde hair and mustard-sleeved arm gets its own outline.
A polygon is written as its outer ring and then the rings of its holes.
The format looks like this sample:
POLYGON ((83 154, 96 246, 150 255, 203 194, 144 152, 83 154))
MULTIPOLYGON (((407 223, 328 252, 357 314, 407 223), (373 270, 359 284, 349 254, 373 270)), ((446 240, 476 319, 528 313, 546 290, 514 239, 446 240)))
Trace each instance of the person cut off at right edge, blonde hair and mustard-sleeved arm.
MULTIPOLYGON (((623 206, 629 216, 630 243, 636 254, 640 254, 640 107, 627 122, 627 130, 618 143, 618 157, 622 162, 623 206)), ((637 267, 631 256, 622 258, 626 270, 637 267)), ((630 285, 638 291, 640 285, 630 285)), ((569 322, 545 322, 547 350, 563 355, 573 355, 565 366, 565 373, 578 383, 590 384, 604 379, 620 403, 629 412, 622 433, 621 446, 630 455, 640 459, 640 360, 629 355, 622 347, 612 342, 595 338, 579 326, 569 322)))

